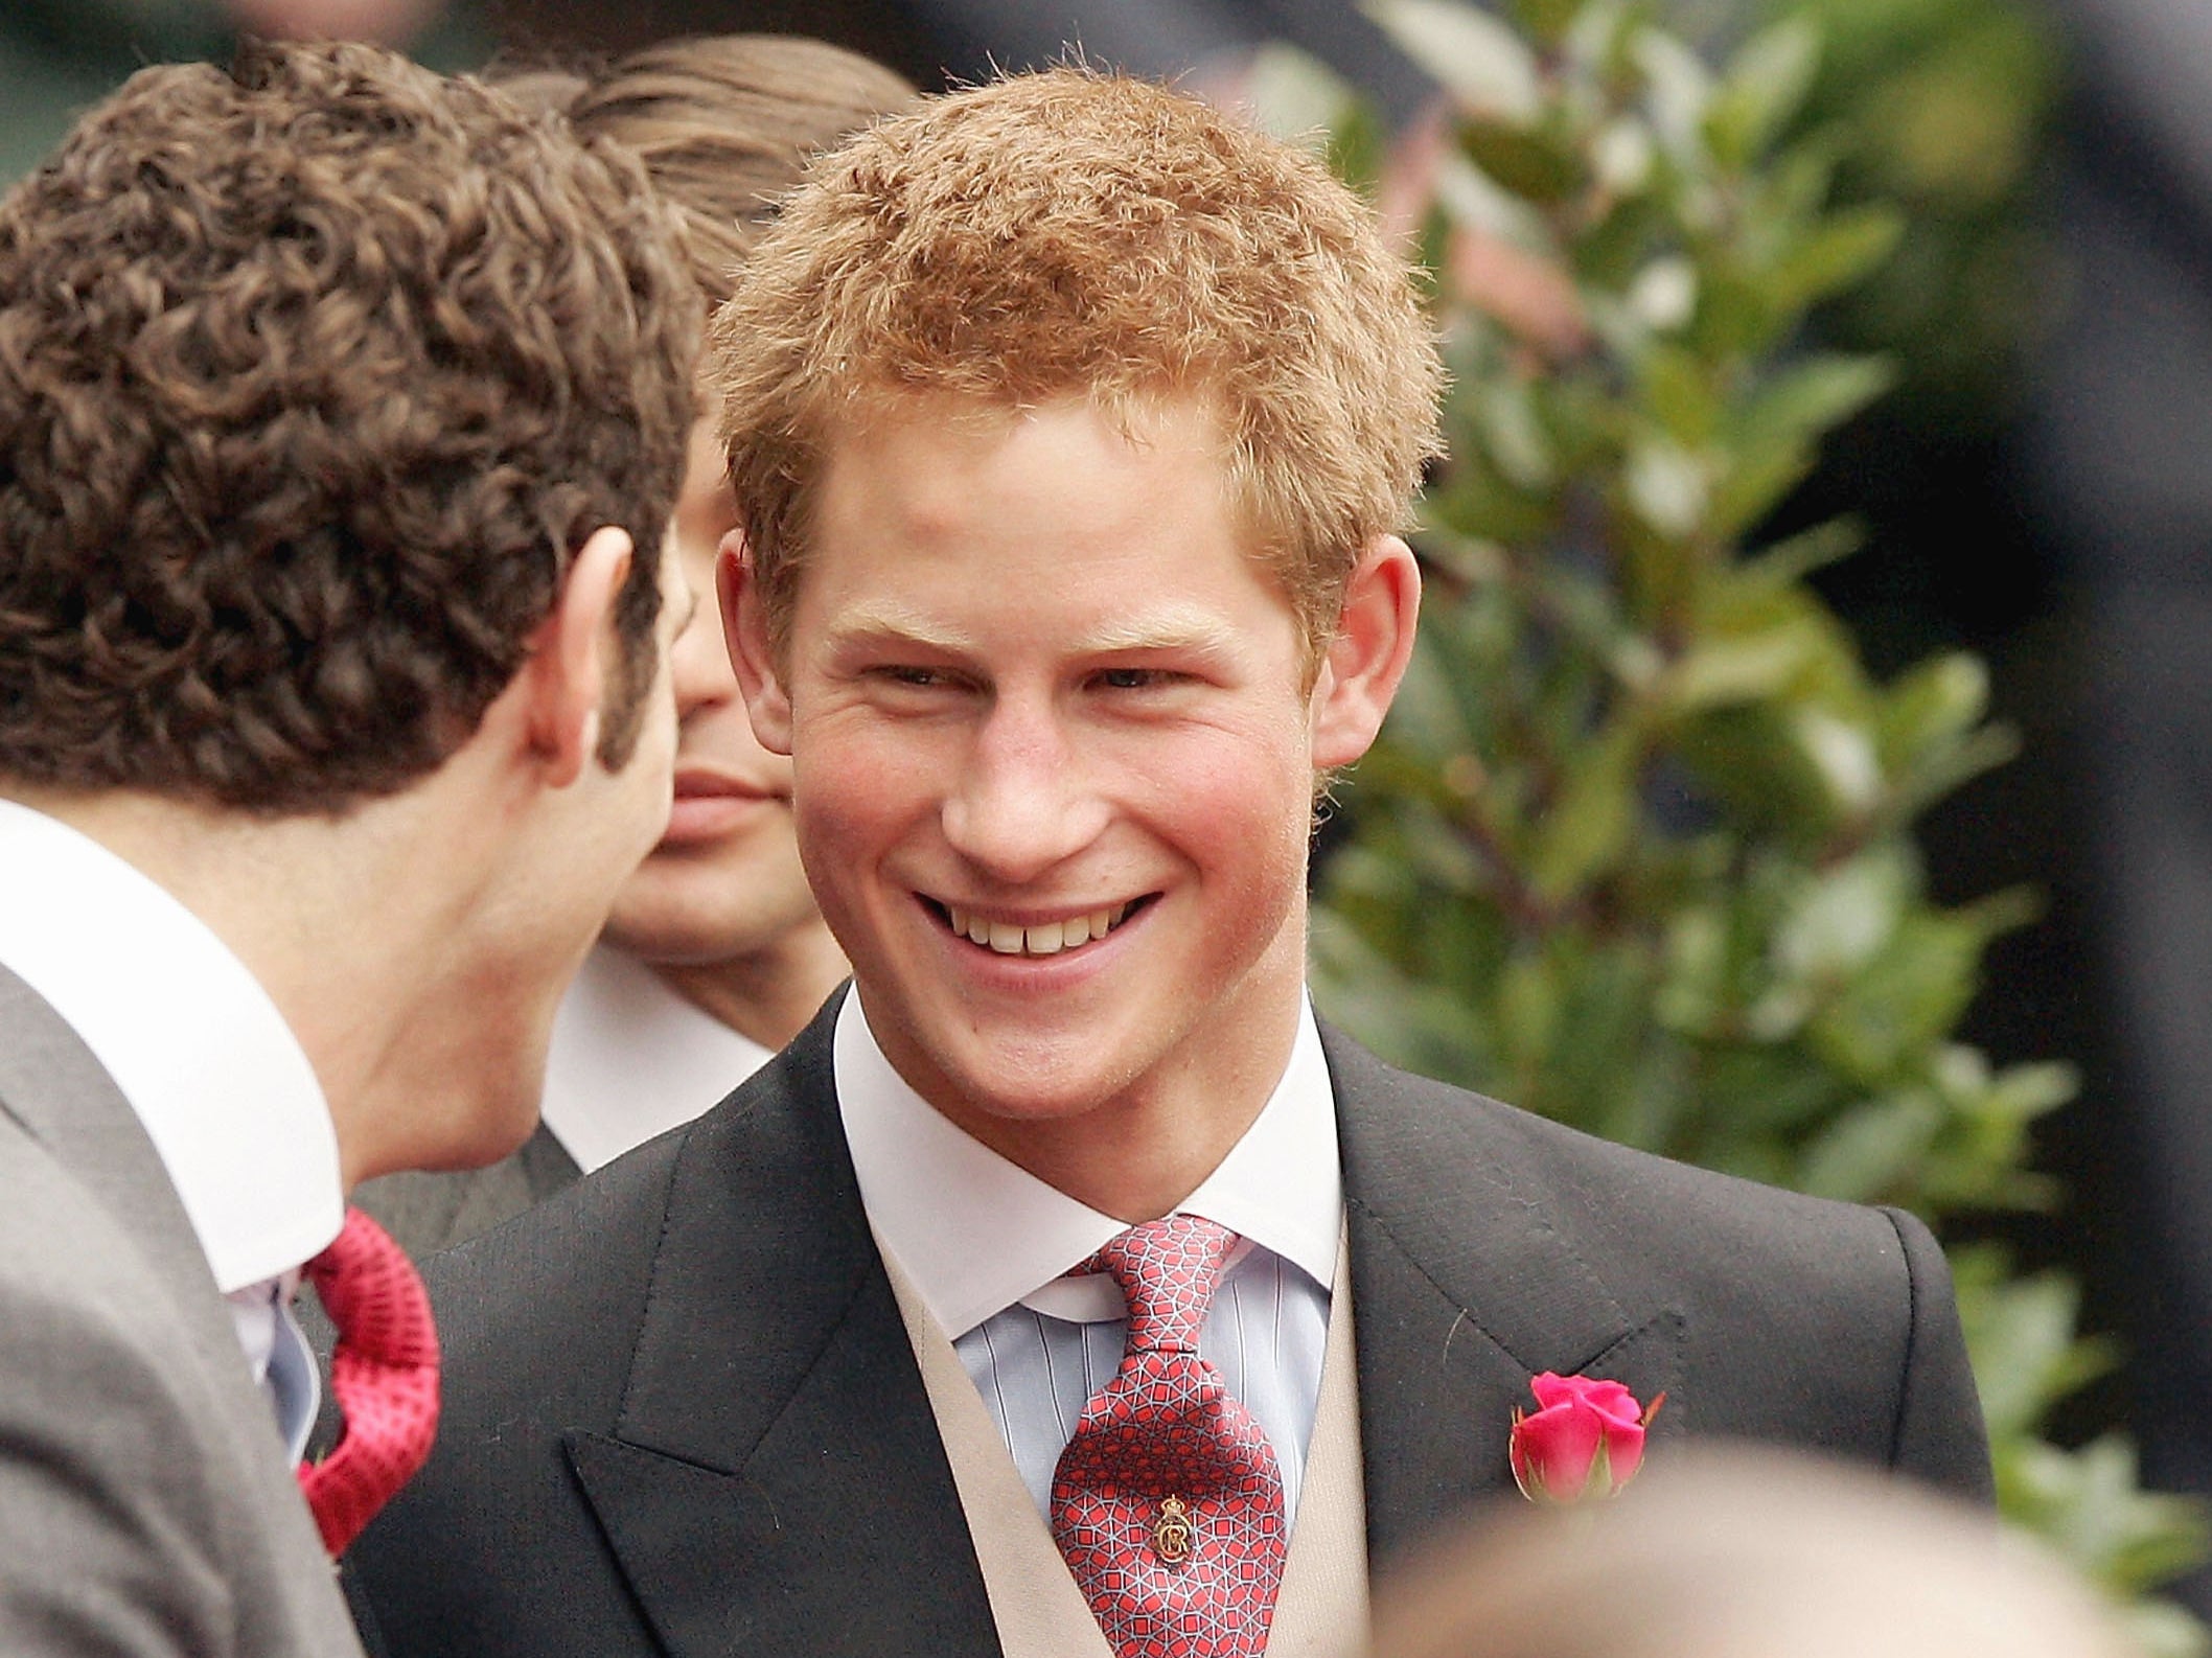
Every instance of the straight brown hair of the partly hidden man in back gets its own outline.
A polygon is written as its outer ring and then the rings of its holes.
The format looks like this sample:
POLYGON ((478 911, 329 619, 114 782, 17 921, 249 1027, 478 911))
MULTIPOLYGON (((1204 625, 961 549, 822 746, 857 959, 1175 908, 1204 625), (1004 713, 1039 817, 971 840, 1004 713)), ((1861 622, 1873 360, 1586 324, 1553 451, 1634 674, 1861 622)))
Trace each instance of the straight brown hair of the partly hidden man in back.
POLYGON ((661 40, 595 73, 493 71, 491 82, 646 164, 708 305, 730 298, 737 267, 816 153, 916 99, 883 64, 801 35, 661 40))

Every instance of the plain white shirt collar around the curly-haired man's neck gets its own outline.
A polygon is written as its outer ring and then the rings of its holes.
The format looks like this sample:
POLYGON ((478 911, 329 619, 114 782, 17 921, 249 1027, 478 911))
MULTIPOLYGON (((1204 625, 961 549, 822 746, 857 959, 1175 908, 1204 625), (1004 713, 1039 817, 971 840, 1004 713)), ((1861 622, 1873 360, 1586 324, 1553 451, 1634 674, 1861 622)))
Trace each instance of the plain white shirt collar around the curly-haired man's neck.
POLYGON ((100 842, 0 800, 0 962, 146 1125, 226 1295, 338 1236, 338 1136, 261 982, 100 842))

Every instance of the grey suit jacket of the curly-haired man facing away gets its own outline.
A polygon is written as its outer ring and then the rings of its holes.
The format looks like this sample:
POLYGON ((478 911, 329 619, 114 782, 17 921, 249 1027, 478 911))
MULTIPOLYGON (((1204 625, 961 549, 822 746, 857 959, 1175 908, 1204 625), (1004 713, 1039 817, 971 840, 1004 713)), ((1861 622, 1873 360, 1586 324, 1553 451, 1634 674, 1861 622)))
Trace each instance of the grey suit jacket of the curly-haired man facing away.
POLYGON ((4 970, 0 1651, 361 1654, 153 1141, 4 970))

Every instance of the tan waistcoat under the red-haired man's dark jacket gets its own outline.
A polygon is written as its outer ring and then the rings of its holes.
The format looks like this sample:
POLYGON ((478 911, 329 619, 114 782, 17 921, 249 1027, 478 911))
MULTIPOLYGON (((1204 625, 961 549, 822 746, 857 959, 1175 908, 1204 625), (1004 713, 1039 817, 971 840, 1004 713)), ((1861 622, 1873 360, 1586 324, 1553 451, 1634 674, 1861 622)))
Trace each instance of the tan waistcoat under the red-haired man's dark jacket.
MULTIPOLYGON (((1006 1658, 1113 1658, 951 1340, 880 1238, 876 1245, 922 1366, 922 1386, 929 1388, 929 1408, 967 1510, 1006 1658)), ((1360 1651, 1367 1640, 1367 1497, 1360 1486, 1360 1399, 1345 1256, 1345 1245, 1338 1245, 1321 1402, 1283 1589, 1267 1631, 1270 1658, 1360 1651)))

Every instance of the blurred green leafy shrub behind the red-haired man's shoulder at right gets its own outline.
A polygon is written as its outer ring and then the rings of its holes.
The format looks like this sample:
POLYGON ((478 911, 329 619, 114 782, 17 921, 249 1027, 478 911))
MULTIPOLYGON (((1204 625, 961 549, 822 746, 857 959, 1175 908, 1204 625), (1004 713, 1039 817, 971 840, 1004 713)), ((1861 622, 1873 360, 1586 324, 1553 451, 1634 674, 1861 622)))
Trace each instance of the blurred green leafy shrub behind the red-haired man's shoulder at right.
MULTIPOLYGON (((1420 652, 1323 871, 1314 984, 1389 1059, 1606 1138, 1933 1222, 2042 1209, 2028 1132, 2073 1072, 1955 1039, 2033 902, 1938 906, 1911 838, 2013 749, 1986 672, 1874 681, 1805 579, 1851 524, 1745 548, 1896 378, 1809 347, 1807 312, 1922 234, 1838 190, 1829 11, 1712 69, 1617 0, 1376 0, 1449 102, 1396 146, 1310 60, 1259 64, 1263 119, 1323 133, 1436 272, 1453 369, 1420 652)), ((2194 1505, 2141 1492, 2119 1435, 2039 1437, 2112 1362, 2073 1282, 1955 1265, 2006 1514, 2154 1651, 2201 1649, 2137 1598, 2199 1559, 2194 1505)))

